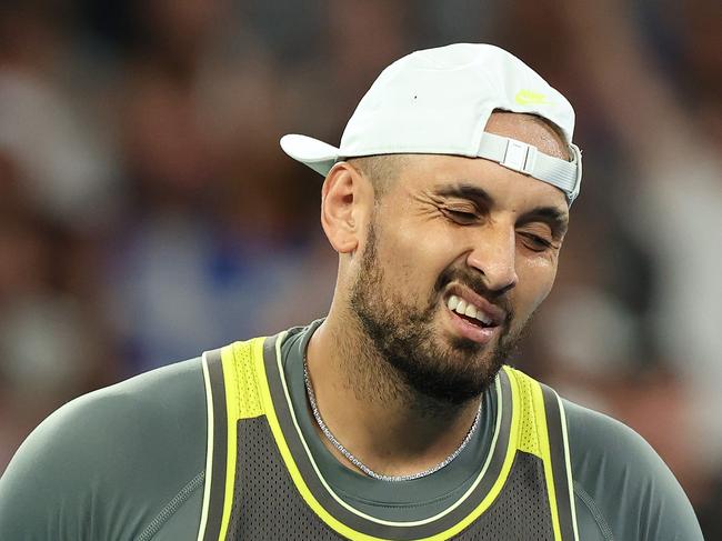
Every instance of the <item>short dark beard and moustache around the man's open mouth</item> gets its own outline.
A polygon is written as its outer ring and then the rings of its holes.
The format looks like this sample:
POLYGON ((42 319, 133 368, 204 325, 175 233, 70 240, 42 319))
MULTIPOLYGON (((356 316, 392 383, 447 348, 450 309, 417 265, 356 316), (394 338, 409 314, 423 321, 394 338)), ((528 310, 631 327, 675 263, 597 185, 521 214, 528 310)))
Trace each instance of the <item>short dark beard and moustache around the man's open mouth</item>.
POLYGON ((417 395, 447 405, 467 403, 493 382, 520 341, 521 330, 514 334, 510 332, 513 315, 507 299, 485 290, 480 283, 479 272, 465 267, 444 270, 429 293, 424 308, 404 301, 398 289, 388 282, 378 260, 373 222, 369 226, 368 244, 360 267, 350 291, 351 311, 381 362, 417 395), (507 311, 508 317, 495 342, 480 344, 463 337, 442 337, 435 330, 434 317, 443 309, 443 291, 452 281, 507 311))

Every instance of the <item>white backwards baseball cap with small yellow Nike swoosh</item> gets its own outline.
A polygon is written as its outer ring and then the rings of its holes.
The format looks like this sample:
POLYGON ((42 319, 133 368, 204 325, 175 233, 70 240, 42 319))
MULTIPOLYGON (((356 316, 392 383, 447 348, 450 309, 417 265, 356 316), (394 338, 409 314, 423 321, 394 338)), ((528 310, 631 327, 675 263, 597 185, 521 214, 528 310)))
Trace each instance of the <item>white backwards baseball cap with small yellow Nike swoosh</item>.
POLYGON ((455 43, 412 52, 384 69, 351 116, 339 148, 299 134, 283 136, 281 148, 323 176, 335 162, 363 156, 484 158, 555 186, 571 206, 582 180, 573 131, 572 106, 524 62, 495 46, 455 43), (494 110, 549 120, 564 136, 572 160, 485 132, 494 110))

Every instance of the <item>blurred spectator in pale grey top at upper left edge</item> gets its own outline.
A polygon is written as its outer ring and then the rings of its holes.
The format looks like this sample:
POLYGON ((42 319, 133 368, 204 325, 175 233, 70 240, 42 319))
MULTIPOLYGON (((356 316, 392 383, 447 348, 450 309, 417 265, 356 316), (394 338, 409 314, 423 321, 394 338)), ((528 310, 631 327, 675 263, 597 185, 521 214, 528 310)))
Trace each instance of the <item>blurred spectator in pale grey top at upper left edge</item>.
POLYGON ((111 130, 94 122, 89 100, 74 102, 63 73, 72 58, 62 30, 39 7, 2 11, 0 148, 23 169, 22 189, 39 210, 92 229, 108 222, 121 193, 111 130))

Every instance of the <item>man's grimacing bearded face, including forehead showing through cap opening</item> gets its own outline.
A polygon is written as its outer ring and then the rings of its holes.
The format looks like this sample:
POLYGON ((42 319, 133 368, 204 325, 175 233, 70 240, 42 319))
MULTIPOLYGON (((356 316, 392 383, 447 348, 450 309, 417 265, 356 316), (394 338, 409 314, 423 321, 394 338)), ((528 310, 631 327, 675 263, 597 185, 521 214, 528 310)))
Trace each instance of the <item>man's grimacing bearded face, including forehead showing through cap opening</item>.
MULTIPOLYGON (((487 131, 564 152, 525 116, 495 113, 487 131)), ((409 385, 465 402, 551 290, 566 222, 550 184, 483 159, 409 157, 373 211, 351 310, 409 385)))

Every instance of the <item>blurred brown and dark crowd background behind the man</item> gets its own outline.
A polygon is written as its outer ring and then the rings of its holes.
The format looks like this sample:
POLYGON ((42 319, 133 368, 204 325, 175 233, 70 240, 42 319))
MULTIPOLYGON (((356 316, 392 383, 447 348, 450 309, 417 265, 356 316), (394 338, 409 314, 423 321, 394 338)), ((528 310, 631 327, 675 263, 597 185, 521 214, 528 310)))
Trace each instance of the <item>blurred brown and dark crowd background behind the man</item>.
POLYGON ((4 0, 0 472, 80 393, 322 315, 321 178, 279 138, 335 143, 389 62, 482 41, 584 151, 512 362, 644 435, 722 539, 721 28, 718 0, 4 0))

